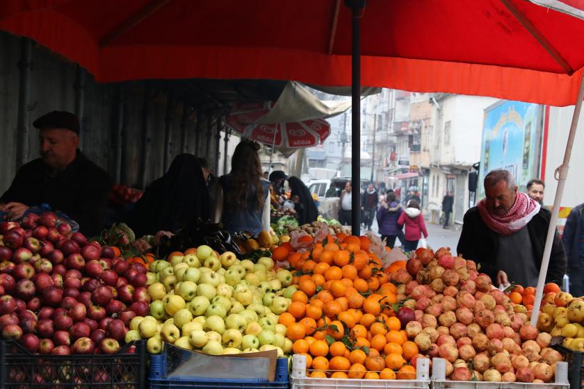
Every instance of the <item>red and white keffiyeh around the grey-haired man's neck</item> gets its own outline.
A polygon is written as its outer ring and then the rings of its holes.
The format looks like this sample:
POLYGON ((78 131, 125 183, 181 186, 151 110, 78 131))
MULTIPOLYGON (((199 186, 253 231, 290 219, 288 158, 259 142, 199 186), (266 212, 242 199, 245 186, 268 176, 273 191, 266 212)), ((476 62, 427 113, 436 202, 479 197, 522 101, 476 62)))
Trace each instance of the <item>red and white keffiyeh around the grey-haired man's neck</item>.
POLYGON ((480 218, 499 235, 511 235, 524 228, 530 220, 540 212, 540 204, 530 199, 523 192, 517 192, 515 204, 504 215, 492 215, 487 211, 487 202, 482 199, 478 203, 480 218))

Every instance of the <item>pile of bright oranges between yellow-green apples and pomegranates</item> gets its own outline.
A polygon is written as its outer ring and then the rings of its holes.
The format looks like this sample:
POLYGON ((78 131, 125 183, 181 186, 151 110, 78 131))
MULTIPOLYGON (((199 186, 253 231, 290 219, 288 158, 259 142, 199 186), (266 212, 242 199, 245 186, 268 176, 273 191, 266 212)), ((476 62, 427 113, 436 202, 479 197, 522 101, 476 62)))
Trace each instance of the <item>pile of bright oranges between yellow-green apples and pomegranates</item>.
MULTIPOLYGON (((295 269, 288 311, 279 316, 293 340, 294 354, 306 356, 314 378, 415 379, 416 344, 407 340, 391 304, 396 285, 366 236, 329 235, 302 253, 284 244, 273 251, 295 269)), ((393 263, 392 270, 405 268, 393 263)))

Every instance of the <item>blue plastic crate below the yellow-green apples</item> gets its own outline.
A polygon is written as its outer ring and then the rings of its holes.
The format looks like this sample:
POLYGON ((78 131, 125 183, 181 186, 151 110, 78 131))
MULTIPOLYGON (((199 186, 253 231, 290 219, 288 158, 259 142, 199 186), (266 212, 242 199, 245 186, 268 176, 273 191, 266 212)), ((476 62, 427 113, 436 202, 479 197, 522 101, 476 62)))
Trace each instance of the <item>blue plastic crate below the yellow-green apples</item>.
MULTIPOLYGON (((166 345, 165 345, 166 346, 166 345)), ((288 388, 288 358, 278 358, 275 381, 266 379, 213 379, 197 376, 168 377, 168 360, 165 347, 162 354, 150 356, 148 387, 163 388, 225 388, 225 389, 287 389, 288 388)), ((176 347, 175 347, 176 349, 176 347)), ((183 350, 186 353, 190 351, 183 350)), ((176 356, 173 356, 176 357, 176 356)), ((179 356, 180 358, 180 356, 179 356)), ((175 359, 175 358, 172 358, 175 359)))

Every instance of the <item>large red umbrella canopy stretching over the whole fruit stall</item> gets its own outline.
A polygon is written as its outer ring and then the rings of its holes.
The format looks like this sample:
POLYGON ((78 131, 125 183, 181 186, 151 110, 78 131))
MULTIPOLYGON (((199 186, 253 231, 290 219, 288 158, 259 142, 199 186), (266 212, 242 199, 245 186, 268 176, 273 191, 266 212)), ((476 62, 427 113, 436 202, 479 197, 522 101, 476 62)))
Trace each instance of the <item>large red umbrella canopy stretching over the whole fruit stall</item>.
MULTIPOLYGON (((98 81, 273 78, 350 85, 341 0, 3 0, 0 29, 98 81)), ((584 65, 584 21, 524 0, 369 0, 362 85, 565 106, 584 65)))

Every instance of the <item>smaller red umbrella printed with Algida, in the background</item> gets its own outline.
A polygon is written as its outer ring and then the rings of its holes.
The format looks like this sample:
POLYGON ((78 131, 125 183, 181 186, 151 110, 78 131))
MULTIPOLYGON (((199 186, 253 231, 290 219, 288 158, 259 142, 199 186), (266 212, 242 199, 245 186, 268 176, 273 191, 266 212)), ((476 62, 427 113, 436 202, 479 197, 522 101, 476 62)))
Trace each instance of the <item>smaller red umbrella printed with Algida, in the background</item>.
MULTIPOLYGON (((330 124, 324 119, 293 123, 260 124, 274 104, 270 101, 236 104, 227 115, 227 126, 243 137, 279 149, 301 149, 321 144, 330 135, 330 124)), ((286 150, 287 151, 287 150, 286 150)))

